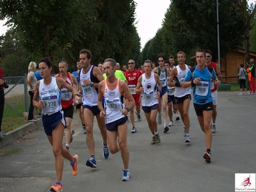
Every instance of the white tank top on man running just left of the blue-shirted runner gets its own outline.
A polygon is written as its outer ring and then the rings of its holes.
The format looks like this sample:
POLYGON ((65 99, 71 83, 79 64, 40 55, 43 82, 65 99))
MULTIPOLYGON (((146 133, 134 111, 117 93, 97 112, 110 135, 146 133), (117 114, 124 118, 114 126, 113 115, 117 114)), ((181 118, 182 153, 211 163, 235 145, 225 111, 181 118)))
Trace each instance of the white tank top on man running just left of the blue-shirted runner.
MULTIPOLYGON (((176 66, 177 68, 176 77, 179 79, 180 83, 184 81, 184 78, 186 77, 187 72, 189 70, 188 65, 185 64, 185 66, 186 66, 185 70, 181 70, 179 65, 176 66)), ((183 97, 188 94, 191 94, 191 86, 189 86, 188 88, 182 88, 181 86, 175 88, 175 94, 174 94, 175 97, 183 97)))

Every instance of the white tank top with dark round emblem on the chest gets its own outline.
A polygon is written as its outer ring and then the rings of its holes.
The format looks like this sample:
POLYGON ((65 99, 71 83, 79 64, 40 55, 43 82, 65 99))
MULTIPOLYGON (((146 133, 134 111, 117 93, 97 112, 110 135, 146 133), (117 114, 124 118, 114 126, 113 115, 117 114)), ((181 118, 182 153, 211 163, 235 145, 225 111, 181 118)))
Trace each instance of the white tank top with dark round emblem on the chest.
POLYGON ((142 82, 141 85, 144 88, 144 94, 142 98, 142 106, 153 106, 154 104, 158 104, 157 100, 157 92, 156 92, 156 79, 154 77, 154 73, 151 72, 151 76, 149 79, 145 77, 145 74, 142 74, 142 82))

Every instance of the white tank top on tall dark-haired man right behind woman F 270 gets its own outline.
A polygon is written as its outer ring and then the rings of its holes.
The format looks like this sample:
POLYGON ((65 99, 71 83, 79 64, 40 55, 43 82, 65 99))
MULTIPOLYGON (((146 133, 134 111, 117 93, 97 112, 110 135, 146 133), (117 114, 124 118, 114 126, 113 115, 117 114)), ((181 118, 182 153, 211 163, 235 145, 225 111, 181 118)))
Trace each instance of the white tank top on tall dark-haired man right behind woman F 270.
POLYGON ((83 91, 83 105, 87 106, 97 106, 97 99, 98 99, 98 92, 96 91, 95 87, 91 87, 88 85, 83 84, 84 79, 89 79, 89 81, 93 82, 91 79, 93 66, 90 67, 86 74, 83 73, 83 68, 80 72, 80 82, 83 91))

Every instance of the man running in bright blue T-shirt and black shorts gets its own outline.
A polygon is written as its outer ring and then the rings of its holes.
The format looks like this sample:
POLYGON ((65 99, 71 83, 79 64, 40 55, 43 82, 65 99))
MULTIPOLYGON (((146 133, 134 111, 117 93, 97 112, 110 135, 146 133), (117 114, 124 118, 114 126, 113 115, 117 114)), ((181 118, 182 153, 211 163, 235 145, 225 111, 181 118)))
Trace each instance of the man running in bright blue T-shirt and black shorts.
POLYGON ((193 86, 194 108, 201 130, 205 133, 206 151, 204 152, 204 159, 209 163, 211 162, 212 144, 212 132, 210 128, 212 117, 211 82, 213 80, 216 86, 220 86, 220 81, 215 74, 214 68, 205 65, 205 60, 205 51, 196 51, 197 65, 188 70, 188 74, 184 82, 180 83, 180 86, 183 88, 193 86))

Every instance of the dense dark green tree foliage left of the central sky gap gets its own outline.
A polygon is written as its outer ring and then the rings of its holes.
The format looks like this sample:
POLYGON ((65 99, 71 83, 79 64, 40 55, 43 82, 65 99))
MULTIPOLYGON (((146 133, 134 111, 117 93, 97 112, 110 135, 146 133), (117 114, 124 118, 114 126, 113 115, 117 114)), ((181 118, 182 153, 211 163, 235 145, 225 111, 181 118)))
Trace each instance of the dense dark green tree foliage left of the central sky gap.
POLYGON ((135 9, 132 0, 3 0, 0 19, 8 19, 35 61, 50 56, 55 65, 66 60, 75 70, 81 49, 92 51, 93 64, 110 57, 120 63, 139 60, 135 9))

